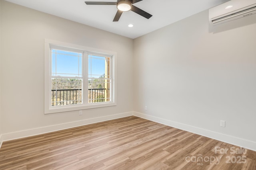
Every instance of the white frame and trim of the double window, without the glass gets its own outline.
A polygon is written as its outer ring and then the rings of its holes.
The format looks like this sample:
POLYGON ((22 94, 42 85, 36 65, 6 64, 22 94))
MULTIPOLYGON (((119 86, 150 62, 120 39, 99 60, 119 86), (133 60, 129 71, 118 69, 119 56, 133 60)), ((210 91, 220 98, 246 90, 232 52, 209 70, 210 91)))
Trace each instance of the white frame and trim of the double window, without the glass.
MULTIPOLYGON (((95 49, 91 47, 85 47, 82 45, 75 45, 71 43, 65 43, 60 41, 54 41, 50 39, 44 40, 44 114, 59 113, 66 111, 75 111, 83 109, 92 109, 98 107, 116 106, 116 52, 106 51, 102 49, 95 49), (83 104, 64 105, 64 106, 51 106, 51 51, 50 45, 67 47, 74 50, 84 51, 84 58, 82 59, 83 70, 83 89, 88 89, 88 54, 101 54, 103 56, 111 57, 111 70, 112 70, 112 82, 111 82, 111 101, 110 102, 96 102, 88 103, 88 97, 83 98, 83 104)), ((88 90, 83 90, 83 96, 88 96, 88 90)))

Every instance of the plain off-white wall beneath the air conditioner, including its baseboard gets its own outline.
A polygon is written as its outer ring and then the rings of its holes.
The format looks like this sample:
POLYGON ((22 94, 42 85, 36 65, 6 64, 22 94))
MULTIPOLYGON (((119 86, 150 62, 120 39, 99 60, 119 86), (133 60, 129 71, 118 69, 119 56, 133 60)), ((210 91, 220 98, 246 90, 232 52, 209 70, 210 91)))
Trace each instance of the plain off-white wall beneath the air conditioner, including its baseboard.
POLYGON ((135 115, 256 150, 255 39, 256 15, 209 28, 208 11, 136 38, 135 115))

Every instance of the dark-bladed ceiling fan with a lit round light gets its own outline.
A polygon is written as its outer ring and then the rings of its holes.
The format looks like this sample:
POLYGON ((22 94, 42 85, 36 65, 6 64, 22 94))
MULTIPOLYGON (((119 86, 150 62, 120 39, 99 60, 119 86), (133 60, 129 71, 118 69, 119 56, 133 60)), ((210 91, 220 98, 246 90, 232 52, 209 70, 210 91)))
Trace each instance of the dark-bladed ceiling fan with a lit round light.
POLYGON ((137 8, 136 6, 132 5, 140 1, 142 0, 118 0, 117 2, 85 2, 85 3, 86 5, 116 5, 118 10, 116 12, 116 16, 114 17, 113 21, 118 21, 123 12, 130 11, 130 10, 149 19, 150 17, 152 17, 151 14, 148 14, 147 12, 141 10, 140 8, 137 8))

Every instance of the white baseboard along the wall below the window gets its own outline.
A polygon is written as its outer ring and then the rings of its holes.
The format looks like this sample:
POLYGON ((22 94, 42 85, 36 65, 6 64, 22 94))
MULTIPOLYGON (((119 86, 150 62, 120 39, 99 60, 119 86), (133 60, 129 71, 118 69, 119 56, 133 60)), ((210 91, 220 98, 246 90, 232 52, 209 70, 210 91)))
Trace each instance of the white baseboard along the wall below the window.
POLYGON ((115 115, 107 115, 107 116, 96 117, 96 118, 92 118, 92 119, 84 119, 84 120, 80 120, 80 121, 62 123, 62 124, 58 124, 58 125, 40 127, 40 128, 36 128, 36 129, 29 129, 29 130, 25 130, 25 131, 6 133, 6 134, 2 134, 2 140, 0 140, 0 141, 10 141, 10 140, 14 140, 14 139, 20 139, 23 137, 40 135, 43 133, 49 133, 49 132, 53 132, 53 131, 60 131, 60 130, 69 129, 72 127, 79 127, 79 126, 83 126, 83 125, 89 125, 92 123, 98 123, 98 122, 102 122, 102 121, 119 119, 122 117, 128 117, 128 116, 132 116, 132 115, 133 115, 133 112, 119 113, 119 114, 115 114, 115 115))

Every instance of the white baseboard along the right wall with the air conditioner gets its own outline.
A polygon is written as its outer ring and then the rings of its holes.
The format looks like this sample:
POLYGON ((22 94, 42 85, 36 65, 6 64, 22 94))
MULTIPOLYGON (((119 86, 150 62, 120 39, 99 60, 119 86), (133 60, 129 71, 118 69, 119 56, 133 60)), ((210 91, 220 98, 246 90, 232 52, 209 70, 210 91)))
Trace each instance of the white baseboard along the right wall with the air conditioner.
POLYGON ((196 133, 198 135, 209 137, 211 139, 215 139, 215 140, 218 140, 218 141, 229 143, 231 145, 235 145, 235 146, 238 146, 238 147, 243 147, 243 148, 246 148, 246 149, 249 149, 249 150, 256 151, 256 142, 254 142, 254 141, 248 141, 246 139, 241 139, 241 138, 238 138, 238 137, 233 137, 233 136, 230 136, 230 135, 225 135, 225 134, 214 132, 214 131, 209 131, 207 129, 202 129, 202 128, 199 128, 199 127, 194 127, 194 126, 186 125, 186 124, 183 124, 183 123, 174 122, 174 121, 170 121, 170 120, 167 120, 167 119, 162 119, 160 117, 146 115, 144 113, 133 112, 133 115, 137 116, 137 117, 141 117, 143 119, 148 119, 150 121, 161 123, 163 125, 175 127, 177 129, 181 129, 181 130, 188 131, 188 132, 191 132, 191 133, 196 133))

